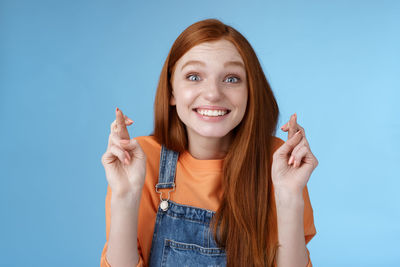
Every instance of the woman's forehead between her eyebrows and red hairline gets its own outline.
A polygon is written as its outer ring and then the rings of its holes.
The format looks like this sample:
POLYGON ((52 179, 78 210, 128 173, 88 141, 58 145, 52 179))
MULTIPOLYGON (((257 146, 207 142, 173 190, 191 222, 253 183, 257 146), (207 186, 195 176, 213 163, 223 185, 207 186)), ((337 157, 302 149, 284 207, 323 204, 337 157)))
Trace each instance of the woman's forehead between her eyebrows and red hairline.
POLYGON ((224 63, 226 61, 243 62, 239 51, 233 43, 228 40, 218 40, 214 42, 204 42, 192 47, 177 62, 182 65, 189 60, 209 61, 216 59, 224 63))

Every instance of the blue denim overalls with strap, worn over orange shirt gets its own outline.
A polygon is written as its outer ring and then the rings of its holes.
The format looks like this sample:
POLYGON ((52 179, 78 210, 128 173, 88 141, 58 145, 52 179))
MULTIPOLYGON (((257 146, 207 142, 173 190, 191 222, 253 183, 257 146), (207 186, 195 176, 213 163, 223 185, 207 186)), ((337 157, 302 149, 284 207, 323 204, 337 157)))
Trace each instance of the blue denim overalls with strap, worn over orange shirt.
POLYGON ((149 266, 226 266, 225 251, 218 248, 209 227, 214 212, 169 200, 170 193, 175 190, 177 161, 178 153, 162 146, 156 185, 161 202, 154 226, 149 266), (166 188, 171 190, 164 199, 158 189, 166 188))

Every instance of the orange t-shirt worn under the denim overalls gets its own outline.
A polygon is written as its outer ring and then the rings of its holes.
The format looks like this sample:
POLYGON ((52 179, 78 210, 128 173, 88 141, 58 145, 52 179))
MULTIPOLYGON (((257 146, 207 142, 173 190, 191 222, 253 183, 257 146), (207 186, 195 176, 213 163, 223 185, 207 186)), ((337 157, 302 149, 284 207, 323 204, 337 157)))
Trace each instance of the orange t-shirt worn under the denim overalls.
MULTIPOLYGON (((137 266, 148 266, 150 249, 153 239, 156 214, 160 203, 160 195, 155 191, 158 183, 161 145, 153 136, 135 138, 147 156, 146 178, 140 199, 138 217, 138 253, 140 261, 137 266)), ((274 138, 273 151, 284 142, 274 138)), ((199 160, 185 151, 179 155, 175 191, 170 199, 178 204, 217 211, 222 198, 222 165, 223 159, 199 160)), ((168 189, 166 189, 168 190, 168 189)), ((313 210, 308 196, 307 187, 303 192, 304 198, 304 235, 308 243, 316 234, 313 210)), ((110 267, 106 260, 108 235, 110 232, 110 201, 111 190, 107 188, 106 196, 106 243, 101 255, 101 267, 110 267)), ((308 266, 312 266, 309 261, 308 266)))

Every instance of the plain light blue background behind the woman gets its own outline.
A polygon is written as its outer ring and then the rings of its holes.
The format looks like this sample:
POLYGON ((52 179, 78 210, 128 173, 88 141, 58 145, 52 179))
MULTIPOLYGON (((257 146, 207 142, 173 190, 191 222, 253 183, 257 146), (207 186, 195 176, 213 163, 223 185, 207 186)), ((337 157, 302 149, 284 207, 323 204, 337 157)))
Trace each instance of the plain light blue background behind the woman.
POLYGON ((319 159, 314 266, 400 266, 400 2, 276 2, 2 0, 0 265, 99 265, 114 109, 148 135, 173 41, 212 17, 248 38, 280 125, 297 112, 319 159))

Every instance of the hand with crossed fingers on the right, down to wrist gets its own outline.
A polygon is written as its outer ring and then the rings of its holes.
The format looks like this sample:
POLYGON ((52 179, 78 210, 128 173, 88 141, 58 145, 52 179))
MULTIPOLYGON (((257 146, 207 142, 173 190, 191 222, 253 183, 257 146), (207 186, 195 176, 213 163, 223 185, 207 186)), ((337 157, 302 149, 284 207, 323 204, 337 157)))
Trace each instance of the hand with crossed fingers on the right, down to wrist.
POLYGON ((281 129, 288 132, 288 140, 273 155, 272 182, 275 190, 301 194, 318 160, 310 150, 304 129, 297 124, 296 114, 281 129))

